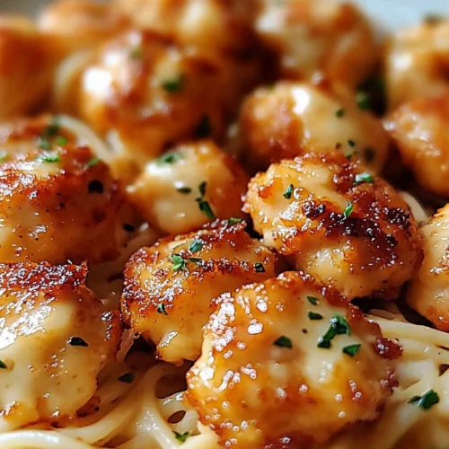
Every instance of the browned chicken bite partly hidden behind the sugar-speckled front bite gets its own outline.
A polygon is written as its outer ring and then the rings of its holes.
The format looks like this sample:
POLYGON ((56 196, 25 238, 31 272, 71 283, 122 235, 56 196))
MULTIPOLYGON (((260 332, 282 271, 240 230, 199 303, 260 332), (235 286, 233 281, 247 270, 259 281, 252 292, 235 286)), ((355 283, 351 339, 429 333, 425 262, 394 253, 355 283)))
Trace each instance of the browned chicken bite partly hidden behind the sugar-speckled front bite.
POLYGON ((244 231, 216 221, 197 233, 166 238, 128 261, 121 307, 124 321, 151 340, 158 357, 195 360, 212 299, 277 274, 277 258, 244 231))

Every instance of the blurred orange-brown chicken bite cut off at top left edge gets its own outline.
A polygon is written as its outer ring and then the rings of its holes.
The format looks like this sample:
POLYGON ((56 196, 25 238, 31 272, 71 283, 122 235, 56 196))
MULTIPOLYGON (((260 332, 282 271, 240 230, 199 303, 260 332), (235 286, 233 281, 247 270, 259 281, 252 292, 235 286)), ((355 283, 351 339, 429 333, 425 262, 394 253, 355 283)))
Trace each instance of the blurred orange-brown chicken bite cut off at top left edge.
POLYGON ((56 64, 51 45, 30 23, 0 21, 0 119, 44 106, 56 64))

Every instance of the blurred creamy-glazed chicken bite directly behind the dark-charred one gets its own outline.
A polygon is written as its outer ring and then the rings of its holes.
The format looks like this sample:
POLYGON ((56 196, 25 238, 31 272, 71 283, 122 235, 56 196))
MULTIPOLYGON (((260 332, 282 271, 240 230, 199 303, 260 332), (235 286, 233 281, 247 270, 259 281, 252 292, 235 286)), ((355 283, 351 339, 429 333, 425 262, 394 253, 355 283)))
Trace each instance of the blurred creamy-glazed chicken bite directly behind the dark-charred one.
POLYGON ((379 172, 389 149, 382 123, 360 110, 354 92, 319 77, 313 84, 283 82, 251 93, 242 106, 238 140, 253 172, 298 154, 336 148, 379 172))

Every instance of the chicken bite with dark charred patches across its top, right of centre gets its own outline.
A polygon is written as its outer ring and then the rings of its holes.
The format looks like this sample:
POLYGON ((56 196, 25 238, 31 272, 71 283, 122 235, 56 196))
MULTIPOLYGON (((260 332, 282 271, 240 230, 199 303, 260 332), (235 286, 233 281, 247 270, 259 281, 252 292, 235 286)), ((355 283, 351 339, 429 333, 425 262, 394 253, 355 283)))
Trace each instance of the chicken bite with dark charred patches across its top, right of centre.
POLYGON ((420 261, 407 203, 341 153, 271 165, 251 180, 244 210, 270 248, 349 299, 395 298, 420 261))

